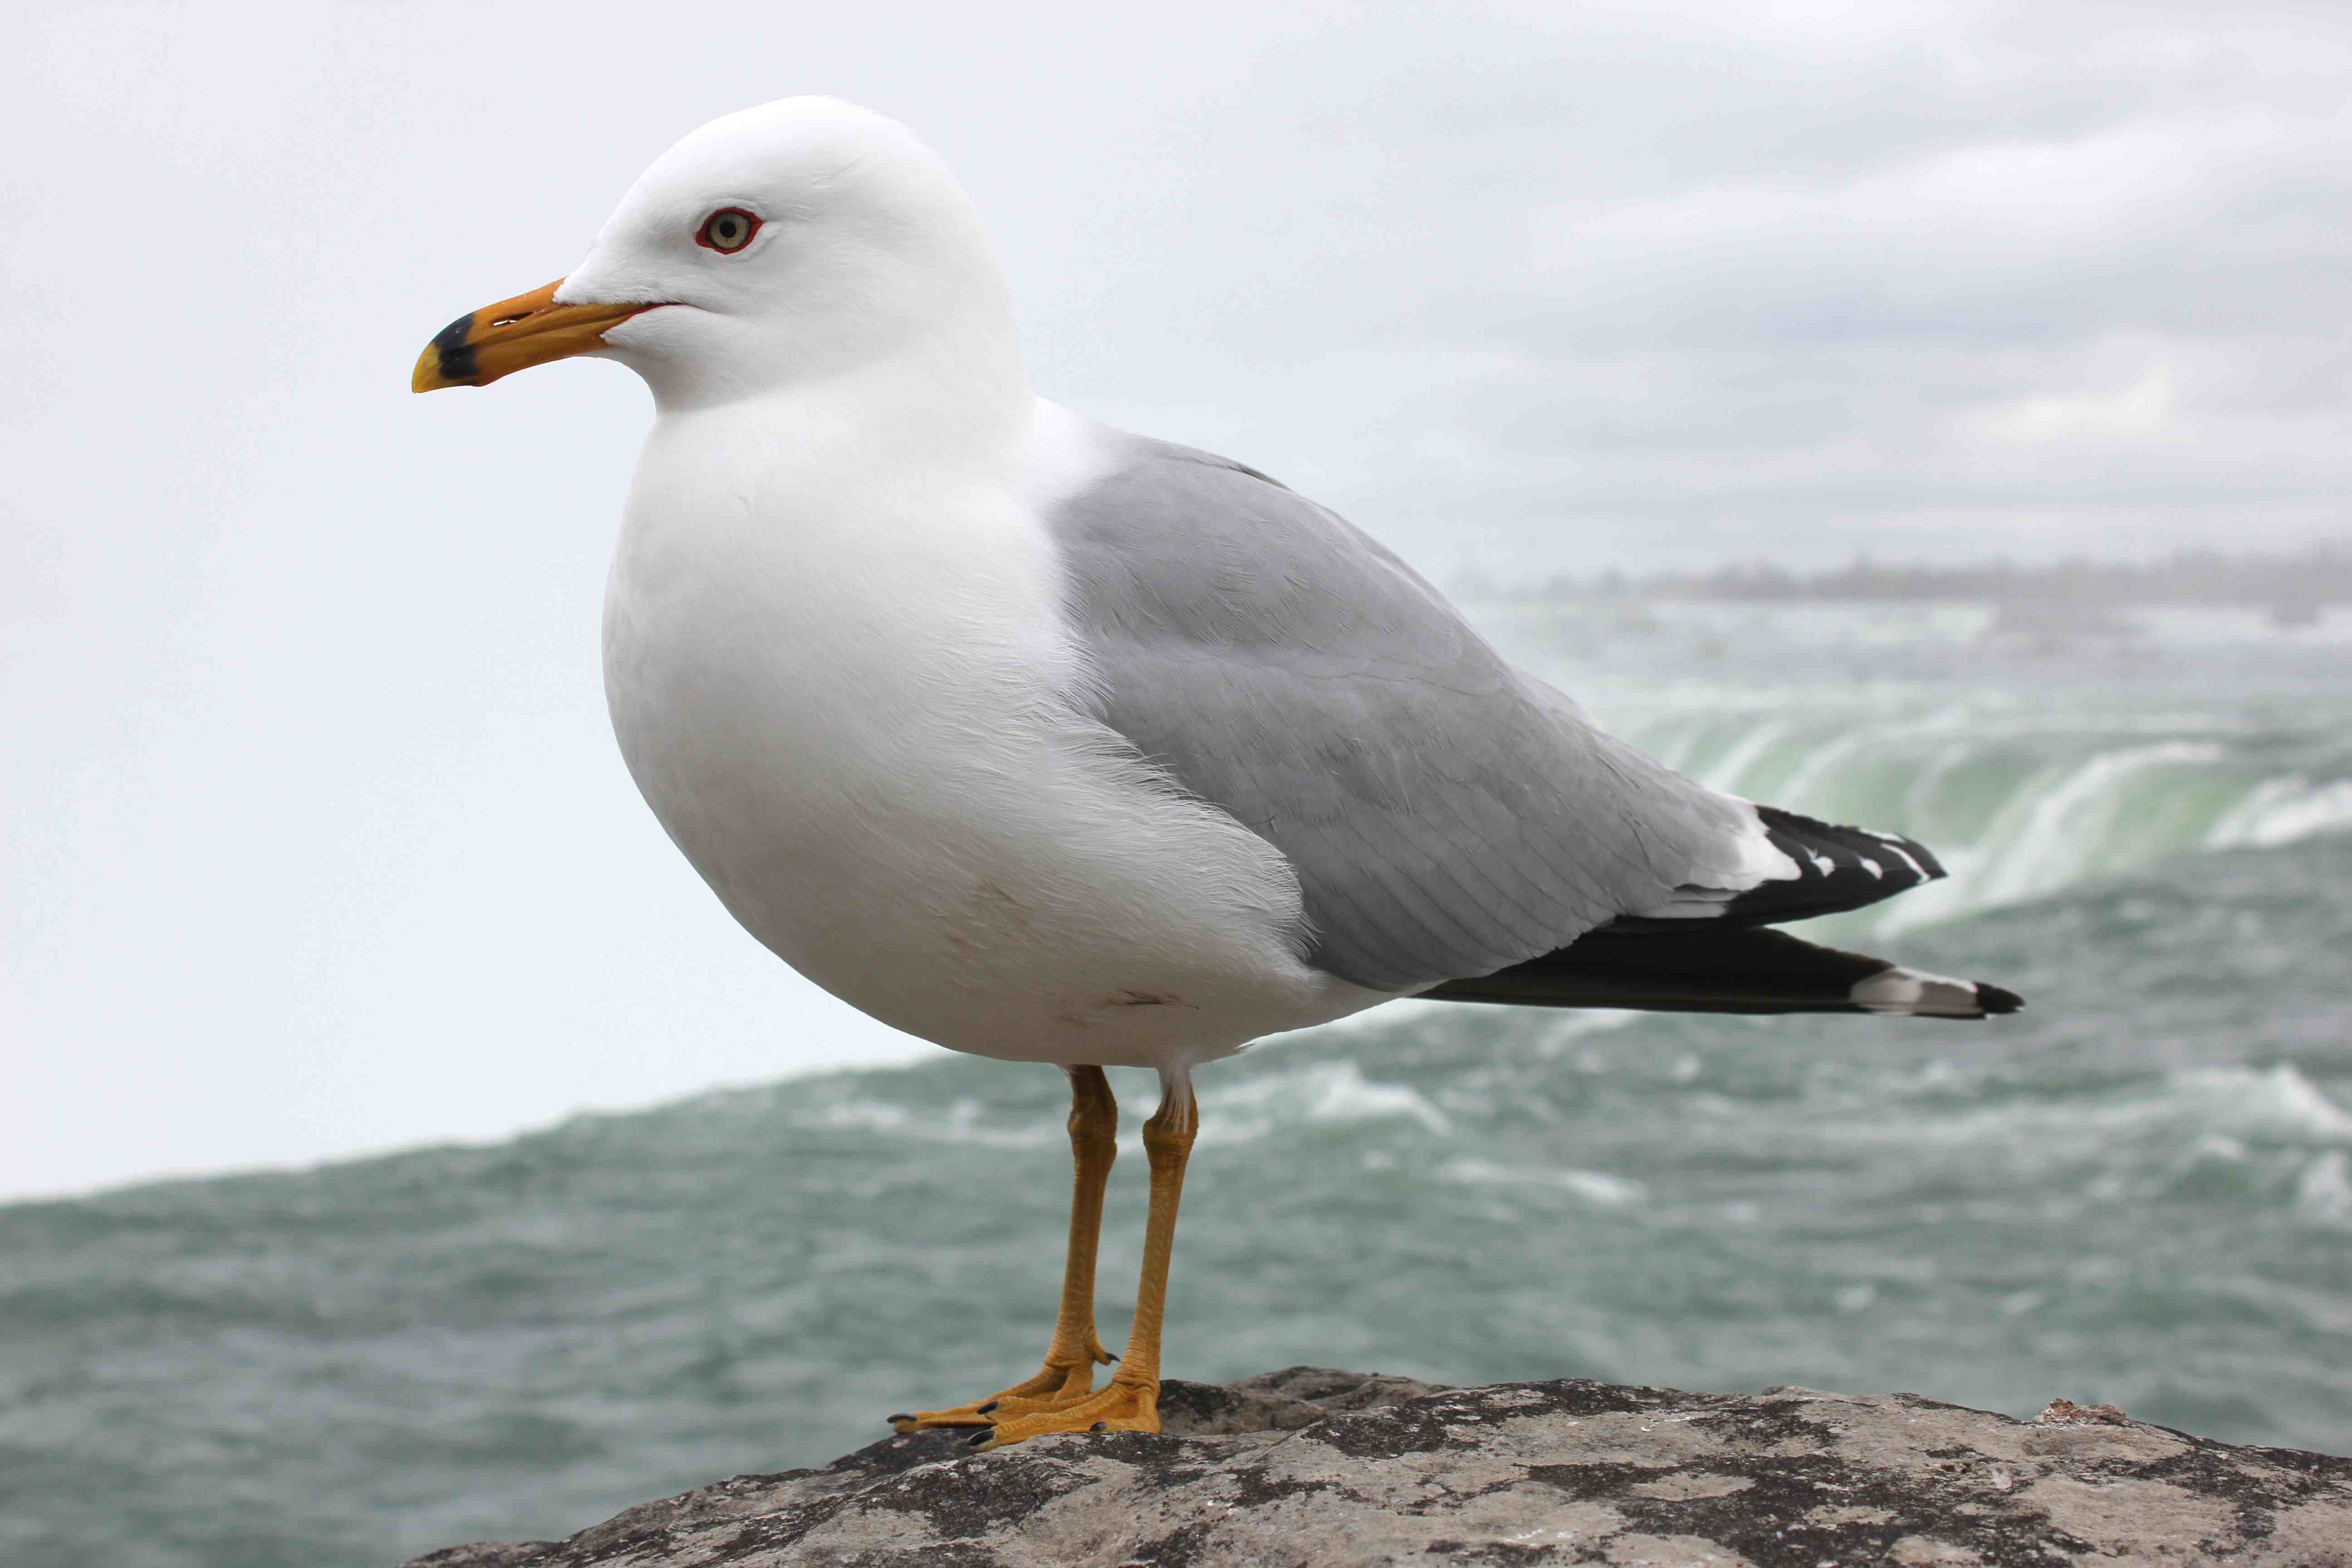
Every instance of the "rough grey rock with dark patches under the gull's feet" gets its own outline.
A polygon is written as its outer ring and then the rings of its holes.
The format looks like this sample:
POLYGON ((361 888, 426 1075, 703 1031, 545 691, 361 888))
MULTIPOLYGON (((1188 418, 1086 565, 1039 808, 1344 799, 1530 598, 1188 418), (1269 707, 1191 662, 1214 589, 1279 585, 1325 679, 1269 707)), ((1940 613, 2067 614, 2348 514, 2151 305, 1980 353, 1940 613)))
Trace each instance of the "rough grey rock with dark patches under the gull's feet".
POLYGON ((2063 1399, 2018 1422, 1915 1394, 1439 1389, 1301 1366, 1169 1382, 1162 1422, 997 1453, 889 1436, 409 1568, 2352 1568, 2352 1460, 2063 1399))

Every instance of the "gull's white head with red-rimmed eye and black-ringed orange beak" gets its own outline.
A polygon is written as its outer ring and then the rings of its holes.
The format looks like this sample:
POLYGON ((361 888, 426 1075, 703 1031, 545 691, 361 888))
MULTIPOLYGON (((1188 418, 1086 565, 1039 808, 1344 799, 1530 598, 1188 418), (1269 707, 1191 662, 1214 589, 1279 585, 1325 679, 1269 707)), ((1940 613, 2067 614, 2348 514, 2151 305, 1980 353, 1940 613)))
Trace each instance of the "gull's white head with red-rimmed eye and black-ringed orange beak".
POLYGON ((946 165, 896 120, 781 99, 654 160, 586 261, 449 322, 412 386, 489 386, 574 355, 621 360, 663 409, 875 367, 1018 386, 1011 331, 1002 273, 946 165))

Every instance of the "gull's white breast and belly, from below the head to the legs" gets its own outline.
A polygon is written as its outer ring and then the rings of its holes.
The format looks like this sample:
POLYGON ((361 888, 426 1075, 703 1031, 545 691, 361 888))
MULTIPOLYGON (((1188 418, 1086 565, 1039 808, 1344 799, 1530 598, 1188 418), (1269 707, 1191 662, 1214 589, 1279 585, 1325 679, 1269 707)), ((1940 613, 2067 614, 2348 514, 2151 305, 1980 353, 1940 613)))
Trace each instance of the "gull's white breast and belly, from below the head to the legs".
POLYGON ((1305 969, 1282 856, 1070 701, 1009 494, 727 473, 656 428, 604 604, 621 755, 729 912, 875 1018, 1018 1060, 1181 1065, 1369 1006, 1305 969))

